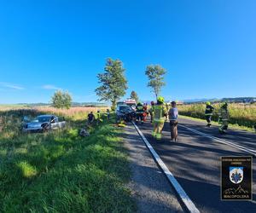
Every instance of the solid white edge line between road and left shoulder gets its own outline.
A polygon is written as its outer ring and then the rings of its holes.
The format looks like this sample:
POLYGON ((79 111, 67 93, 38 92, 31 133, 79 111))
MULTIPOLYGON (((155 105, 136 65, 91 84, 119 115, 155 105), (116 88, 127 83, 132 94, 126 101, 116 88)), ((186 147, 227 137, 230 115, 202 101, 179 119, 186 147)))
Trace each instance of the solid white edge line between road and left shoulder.
POLYGON ((161 160, 160 156, 154 151, 154 148, 150 145, 150 143, 148 142, 147 138, 143 135, 141 130, 139 130, 139 128, 134 122, 132 122, 132 124, 135 126, 138 134, 141 135, 141 137, 143 138, 144 143, 148 147, 149 151, 152 153, 155 161, 157 162, 157 164, 160 165, 160 168, 164 171, 167 179, 171 182, 172 186, 175 188, 178 196, 180 197, 180 199, 182 199, 183 204, 186 206, 189 212, 199 213, 200 211, 195 207, 195 204, 192 202, 192 200, 189 199, 189 196, 187 195, 187 193, 185 193, 183 187, 181 187, 176 178, 172 175, 172 172, 168 170, 166 164, 161 160))

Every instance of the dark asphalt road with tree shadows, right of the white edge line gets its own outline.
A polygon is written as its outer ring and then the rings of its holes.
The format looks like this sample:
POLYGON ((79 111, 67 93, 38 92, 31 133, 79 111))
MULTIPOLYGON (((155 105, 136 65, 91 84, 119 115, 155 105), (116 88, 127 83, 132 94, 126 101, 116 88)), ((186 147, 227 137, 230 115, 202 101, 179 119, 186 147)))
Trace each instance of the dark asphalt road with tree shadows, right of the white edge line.
MULTIPOLYGON (((219 135, 216 126, 207 128, 204 123, 184 118, 180 118, 178 122, 193 130, 256 151, 256 134, 228 130, 228 134, 219 135)), ((165 124, 161 141, 156 141, 151 136, 152 124, 147 122, 137 126, 201 212, 256 212, 255 172, 253 173, 253 201, 220 200, 220 157, 252 156, 252 154, 214 141, 204 135, 198 135, 181 125, 178 126, 176 142, 170 141, 168 123, 165 124)), ((255 158, 253 160, 255 161, 255 158)), ((253 171, 255 171, 255 164, 253 164, 253 171)))

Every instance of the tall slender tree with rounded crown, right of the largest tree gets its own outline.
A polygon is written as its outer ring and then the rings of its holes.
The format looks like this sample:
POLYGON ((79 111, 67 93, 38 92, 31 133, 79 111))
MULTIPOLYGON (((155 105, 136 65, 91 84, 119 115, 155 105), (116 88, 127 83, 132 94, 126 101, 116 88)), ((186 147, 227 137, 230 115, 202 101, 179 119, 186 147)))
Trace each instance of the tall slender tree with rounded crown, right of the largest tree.
POLYGON ((161 88, 166 85, 164 82, 166 69, 160 65, 149 65, 146 68, 145 74, 148 76, 148 87, 153 89, 154 95, 157 98, 160 95, 161 88))

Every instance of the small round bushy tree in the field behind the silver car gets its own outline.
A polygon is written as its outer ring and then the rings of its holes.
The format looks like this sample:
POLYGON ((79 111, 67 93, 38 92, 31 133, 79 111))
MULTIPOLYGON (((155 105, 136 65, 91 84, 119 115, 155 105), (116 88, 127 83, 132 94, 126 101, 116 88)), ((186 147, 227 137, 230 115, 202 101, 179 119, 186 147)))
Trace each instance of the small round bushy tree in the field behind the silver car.
POLYGON ((69 109, 72 106, 72 97, 68 92, 58 90, 55 91, 55 94, 51 97, 51 102, 55 108, 69 109))

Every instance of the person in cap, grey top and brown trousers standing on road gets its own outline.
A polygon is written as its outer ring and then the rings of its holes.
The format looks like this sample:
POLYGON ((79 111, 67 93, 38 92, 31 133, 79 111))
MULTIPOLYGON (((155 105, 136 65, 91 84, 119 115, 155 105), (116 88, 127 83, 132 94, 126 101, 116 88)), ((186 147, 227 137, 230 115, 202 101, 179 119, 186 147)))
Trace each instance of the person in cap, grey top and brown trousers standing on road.
POLYGON ((171 141, 177 141, 177 116, 178 110, 176 102, 172 101, 172 108, 169 110, 170 129, 171 129, 171 141))

